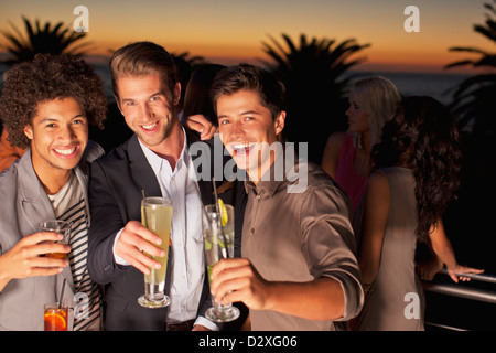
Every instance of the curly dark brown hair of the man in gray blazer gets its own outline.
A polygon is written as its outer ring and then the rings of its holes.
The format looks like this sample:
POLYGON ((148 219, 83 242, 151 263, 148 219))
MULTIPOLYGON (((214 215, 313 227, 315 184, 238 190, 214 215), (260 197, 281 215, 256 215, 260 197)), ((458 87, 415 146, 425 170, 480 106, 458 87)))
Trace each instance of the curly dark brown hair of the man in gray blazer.
POLYGON ((107 98, 101 78, 82 57, 36 54, 33 61, 15 65, 7 74, 0 120, 12 146, 30 146, 24 127, 32 125, 40 103, 56 98, 74 98, 85 109, 89 125, 104 127, 107 98))

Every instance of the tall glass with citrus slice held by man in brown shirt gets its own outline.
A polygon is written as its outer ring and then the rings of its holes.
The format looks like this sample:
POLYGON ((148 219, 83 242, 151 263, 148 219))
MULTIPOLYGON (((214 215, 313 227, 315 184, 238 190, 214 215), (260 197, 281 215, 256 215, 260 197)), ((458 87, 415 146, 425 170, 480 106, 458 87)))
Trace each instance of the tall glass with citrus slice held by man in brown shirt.
MULTIPOLYGON (((208 281, 212 268, 222 258, 234 257, 234 208, 224 205, 222 200, 216 205, 206 205, 203 214, 203 236, 208 281)), ((213 307, 205 312, 205 318, 214 322, 229 322, 239 317, 239 309, 231 303, 223 306, 212 299, 213 307)))

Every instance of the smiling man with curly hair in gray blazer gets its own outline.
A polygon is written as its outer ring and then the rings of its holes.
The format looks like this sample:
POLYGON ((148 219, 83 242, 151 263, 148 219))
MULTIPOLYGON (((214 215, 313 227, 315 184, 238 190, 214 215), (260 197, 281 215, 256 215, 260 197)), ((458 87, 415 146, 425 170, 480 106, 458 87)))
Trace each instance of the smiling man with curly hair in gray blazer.
POLYGON ((0 119, 26 151, 0 174, 0 330, 43 330, 43 306, 61 299, 64 279, 73 329, 100 328, 99 287, 86 267, 87 171, 104 150, 88 141, 88 125, 101 127, 106 114, 101 79, 82 58, 37 54, 9 72, 0 119), (72 222, 68 246, 39 232, 54 218, 72 222))

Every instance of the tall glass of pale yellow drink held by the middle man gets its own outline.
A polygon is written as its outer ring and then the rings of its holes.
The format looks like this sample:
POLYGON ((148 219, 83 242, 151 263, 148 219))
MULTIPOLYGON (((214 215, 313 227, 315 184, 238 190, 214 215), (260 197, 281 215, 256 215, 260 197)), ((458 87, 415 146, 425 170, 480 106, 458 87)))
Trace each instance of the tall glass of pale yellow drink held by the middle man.
POLYGON ((150 268, 150 275, 144 275, 144 295, 138 298, 138 303, 144 308, 165 308, 171 303, 170 298, 164 293, 171 221, 172 202, 169 199, 144 197, 141 201, 141 224, 162 239, 159 247, 165 252, 165 256, 162 257, 145 253, 162 267, 150 268))

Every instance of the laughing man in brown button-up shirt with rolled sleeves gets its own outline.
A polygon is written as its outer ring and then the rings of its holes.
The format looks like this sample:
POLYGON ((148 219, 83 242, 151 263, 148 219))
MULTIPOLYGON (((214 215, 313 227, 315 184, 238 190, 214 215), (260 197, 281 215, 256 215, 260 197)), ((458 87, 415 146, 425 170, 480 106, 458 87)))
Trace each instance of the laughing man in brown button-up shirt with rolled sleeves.
POLYGON ((215 299, 242 301, 256 331, 334 330, 335 320, 355 317, 363 304, 349 202, 311 163, 306 188, 288 191, 290 173, 304 165, 278 163, 289 151, 273 148, 285 124, 284 88, 273 75, 250 65, 226 68, 212 95, 220 139, 249 175, 242 258, 213 268, 215 299))

